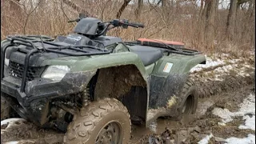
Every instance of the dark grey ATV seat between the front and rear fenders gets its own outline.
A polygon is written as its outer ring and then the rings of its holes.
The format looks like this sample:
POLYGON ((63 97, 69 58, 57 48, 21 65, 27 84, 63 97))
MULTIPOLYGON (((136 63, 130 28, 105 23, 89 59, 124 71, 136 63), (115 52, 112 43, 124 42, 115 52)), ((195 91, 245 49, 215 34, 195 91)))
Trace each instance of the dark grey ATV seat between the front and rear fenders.
POLYGON ((151 46, 130 46, 130 51, 138 54, 138 58, 141 58, 144 66, 157 62, 163 55, 162 50, 151 46))

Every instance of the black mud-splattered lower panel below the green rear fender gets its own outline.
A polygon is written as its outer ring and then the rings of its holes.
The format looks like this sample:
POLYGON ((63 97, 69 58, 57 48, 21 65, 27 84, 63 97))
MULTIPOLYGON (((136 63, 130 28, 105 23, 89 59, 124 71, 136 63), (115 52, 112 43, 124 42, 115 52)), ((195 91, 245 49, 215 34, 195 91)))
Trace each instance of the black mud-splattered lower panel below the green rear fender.
POLYGON ((176 116, 182 102, 180 92, 187 74, 171 74, 168 77, 151 76, 150 100, 146 126, 160 116, 176 116))

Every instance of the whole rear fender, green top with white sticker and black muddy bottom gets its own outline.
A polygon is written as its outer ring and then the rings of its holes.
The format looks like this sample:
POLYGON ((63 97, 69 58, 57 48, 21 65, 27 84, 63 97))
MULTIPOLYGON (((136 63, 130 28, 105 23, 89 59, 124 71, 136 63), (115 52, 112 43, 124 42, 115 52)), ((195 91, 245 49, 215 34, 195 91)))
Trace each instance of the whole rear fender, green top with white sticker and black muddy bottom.
POLYGON ((158 60, 150 75, 150 98, 146 126, 160 116, 177 116, 181 105, 181 90, 194 66, 206 63, 206 57, 198 54, 186 56, 170 54, 158 60))

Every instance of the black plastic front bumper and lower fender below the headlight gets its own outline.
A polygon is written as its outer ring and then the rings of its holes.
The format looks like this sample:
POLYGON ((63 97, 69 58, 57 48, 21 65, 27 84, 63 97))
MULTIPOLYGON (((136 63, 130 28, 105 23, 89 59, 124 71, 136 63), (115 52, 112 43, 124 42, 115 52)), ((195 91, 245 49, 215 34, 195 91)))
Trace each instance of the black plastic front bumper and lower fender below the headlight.
POLYGON ((17 79, 5 77, 1 82, 1 91, 16 98, 22 106, 30 106, 30 102, 34 99, 50 100, 64 95, 77 94, 86 88, 94 74, 96 74, 94 70, 68 73, 60 82, 54 82, 47 78, 35 78, 33 81, 27 82, 25 93, 20 91, 20 82, 17 79))

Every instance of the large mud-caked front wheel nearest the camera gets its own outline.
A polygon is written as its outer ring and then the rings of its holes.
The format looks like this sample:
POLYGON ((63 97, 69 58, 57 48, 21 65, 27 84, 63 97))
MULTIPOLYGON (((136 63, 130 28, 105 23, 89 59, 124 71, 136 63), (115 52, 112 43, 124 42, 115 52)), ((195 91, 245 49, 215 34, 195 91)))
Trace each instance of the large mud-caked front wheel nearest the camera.
POLYGON ((117 99, 105 98, 92 102, 74 115, 67 128, 64 143, 94 144, 109 141, 128 143, 130 141, 130 114, 117 99))

